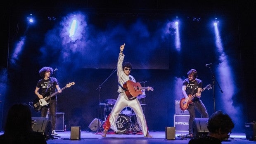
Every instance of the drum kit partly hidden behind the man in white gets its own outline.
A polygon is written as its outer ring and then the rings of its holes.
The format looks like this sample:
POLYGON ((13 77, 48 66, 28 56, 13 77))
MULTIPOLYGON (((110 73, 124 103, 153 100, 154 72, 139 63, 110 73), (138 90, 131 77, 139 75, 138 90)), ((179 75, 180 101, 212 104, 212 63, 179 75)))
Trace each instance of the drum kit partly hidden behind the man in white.
MULTIPOLYGON (((140 101, 141 99, 143 99, 145 97, 146 97, 146 94, 144 92, 142 95, 137 96, 137 99, 139 99, 139 101, 140 101)), ((100 104, 100 105, 104 105, 104 120, 105 121, 107 119, 107 116, 111 113, 115 103, 116 103, 116 99, 106 99, 104 104, 100 104)), ((146 106, 147 104, 141 104, 141 101, 140 101, 140 105, 146 106)), ((136 122, 134 124, 131 120, 131 118, 133 116, 135 116, 133 109, 131 109, 130 107, 125 107, 121 111, 121 113, 119 113, 119 116, 116 120, 116 127, 117 127, 116 133, 118 133, 118 134, 135 134, 136 132, 140 132, 141 129, 140 129, 138 122, 136 122)), ((135 118, 133 118, 133 119, 135 119, 135 118)))

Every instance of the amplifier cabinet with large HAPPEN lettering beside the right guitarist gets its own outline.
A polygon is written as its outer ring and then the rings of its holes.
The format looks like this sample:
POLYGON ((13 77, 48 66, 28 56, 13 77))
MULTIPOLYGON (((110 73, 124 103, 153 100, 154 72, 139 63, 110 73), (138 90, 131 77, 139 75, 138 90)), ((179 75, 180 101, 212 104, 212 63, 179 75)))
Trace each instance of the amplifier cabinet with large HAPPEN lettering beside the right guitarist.
POLYGON ((174 115, 173 117, 176 132, 188 132, 188 120, 190 115, 174 115))

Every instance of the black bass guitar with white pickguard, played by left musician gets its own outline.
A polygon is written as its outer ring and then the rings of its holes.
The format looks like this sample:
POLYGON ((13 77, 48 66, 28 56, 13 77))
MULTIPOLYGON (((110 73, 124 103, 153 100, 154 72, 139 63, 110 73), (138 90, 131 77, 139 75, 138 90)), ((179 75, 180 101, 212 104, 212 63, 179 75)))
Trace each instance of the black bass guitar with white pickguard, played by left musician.
MULTIPOLYGON (((68 84, 66 84, 66 86, 63 87, 61 90, 64 90, 64 89, 67 88, 67 87, 71 87, 71 85, 74 85, 74 84, 75 84, 74 82, 68 83, 68 84)), ((51 97, 55 96, 55 94, 57 94, 57 93, 58 93, 58 91, 52 93, 52 94, 49 95, 49 96, 46 96, 47 94, 49 94, 49 93, 46 93, 46 94, 43 96, 43 99, 39 99, 39 97, 37 97, 37 98, 33 101, 33 108, 34 108, 34 110, 35 110, 36 112, 41 111, 41 109, 42 109, 43 106, 47 106, 47 105, 49 104, 49 99, 50 99, 51 97)))

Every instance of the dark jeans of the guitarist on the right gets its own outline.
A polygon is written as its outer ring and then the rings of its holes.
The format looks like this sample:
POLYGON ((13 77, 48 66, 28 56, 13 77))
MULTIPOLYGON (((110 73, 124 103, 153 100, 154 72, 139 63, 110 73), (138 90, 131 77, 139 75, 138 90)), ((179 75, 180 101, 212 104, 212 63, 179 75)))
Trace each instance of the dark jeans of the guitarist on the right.
POLYGON ((192 124, 194 122, 194 118, 196 117, 195 109, 197 109, 197 111, 201 114, 202 118, 209 118, 207 110, 201 100, 195 101, 190 104, 187 108, 188 112, 190 113, 190 119, 188 121, 189 134, 192 134, 192 124))

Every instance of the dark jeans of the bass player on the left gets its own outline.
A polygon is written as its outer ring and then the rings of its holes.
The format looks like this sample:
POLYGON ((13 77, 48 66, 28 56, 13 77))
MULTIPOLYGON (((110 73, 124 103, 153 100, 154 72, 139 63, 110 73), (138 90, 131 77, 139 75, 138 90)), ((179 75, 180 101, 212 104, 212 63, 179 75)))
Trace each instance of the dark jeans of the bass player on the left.
POLYGON ((56 112, 57 112, 57 98, 51 99, 51 103, 48 106, 44 106, 41 109, 41 117, 46 117, 47 111, 51 106, 51 111, 50 111, 50 118, 51 118, 51 124, 52 124, 52 130, 55 130, 56 127, 56 112))

